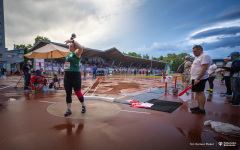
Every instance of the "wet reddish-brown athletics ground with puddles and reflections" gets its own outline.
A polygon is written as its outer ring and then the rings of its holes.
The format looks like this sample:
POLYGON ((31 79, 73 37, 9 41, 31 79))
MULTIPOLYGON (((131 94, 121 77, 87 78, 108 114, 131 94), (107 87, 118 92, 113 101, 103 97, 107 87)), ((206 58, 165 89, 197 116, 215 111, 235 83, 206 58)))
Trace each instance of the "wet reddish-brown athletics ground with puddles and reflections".
MULTIPOLYGON (((14 83, 13 78, 7 80, 14 83)), ((8 85, 5 84, 8 83, 7 80, 0 81, 1 87, 8 85)), ((87 87, 95 82, 89 81, 91 82, 86 83, 83 90, 87 90, 87 87)), ((214 92, 205 92, 206 115, 191 114, 189 109, 195 107, 197 102, 190 93, 182 97, 167 95, 159 98, 183 102, 183 105, 172 113, 133 108, 122 103, 86 100, 87 112, 81 114, 78 110, 80 105, 76 100, 73 103, 73 111, 75 117, 81 116, 78 119, 63 117, 63 114, 61 116, 61 112, 65 111, 64 90, 24 93, 21 86, 1 89, 0 103, 3 106, 0 107, 0 148, 1 150, 239 149, 240 138, 219 134, 211 127, 203 125, 204 121, 213 120, 240 126, 240 107, 225 104, 224 102, 230 99, 220 94, 225 92, 225 86, 219 84, 217 80, 214 83, 214 92), (110 111, 110 108, 114 108, 113 111, 110 111), (89 118, 94 115, 91 115, 93 112, 96 112, 97 117, 89 118), (104 113, 106 115, 101 116, 104 113), (87 115, 89 117, 86 117, 87 115), (226 147, 220 146, 218 142, 236 144, 226 147)), ((207 89, 208 83, 206 85, 207 89)), ((135 85, 135 88, 139 87, 140 85, 135 85)), ((146 89, 148 88, 147 86, 146 89)), ((123 89, 118 89, 121 90, 123 89)), ((93 90, 92 93, 95 92, 93 90)), ((113 95, 114 91, 112 92, 108 91, 109 94, 102 95, 113 95)), ((90 92, 90 95, 92 93, 90 92)), ((101 92, 97 93, 99 94, 101 95, 101 92)), ((121 94, 116 95, 116 98, 122 97, 121 94)))

